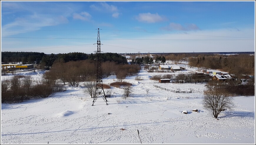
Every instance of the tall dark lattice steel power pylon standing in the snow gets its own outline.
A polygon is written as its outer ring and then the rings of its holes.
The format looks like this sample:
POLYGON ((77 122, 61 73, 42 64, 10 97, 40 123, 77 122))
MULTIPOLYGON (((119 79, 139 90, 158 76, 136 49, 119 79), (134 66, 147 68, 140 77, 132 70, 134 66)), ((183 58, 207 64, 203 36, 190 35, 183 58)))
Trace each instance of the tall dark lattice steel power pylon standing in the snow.
MULTIPOLYGON (((101 44, 100 44, 100 38, 99 38, 99 28, 98 28, 97 45, 98 45, 98 49, 97 49, 98 70, 97 70, 96 91, 95 91, 95 95, 93 97, 92 106, 99 96, 101 96, 103 98, 103 100, 107 103, 107 98, 106 98, 105 92, 103 90, 103 84, 102 84, 101 53, 100 53, 100 45, 101 44)), ((108 103, 107 103, 107 105, 108 105, 108 103)))

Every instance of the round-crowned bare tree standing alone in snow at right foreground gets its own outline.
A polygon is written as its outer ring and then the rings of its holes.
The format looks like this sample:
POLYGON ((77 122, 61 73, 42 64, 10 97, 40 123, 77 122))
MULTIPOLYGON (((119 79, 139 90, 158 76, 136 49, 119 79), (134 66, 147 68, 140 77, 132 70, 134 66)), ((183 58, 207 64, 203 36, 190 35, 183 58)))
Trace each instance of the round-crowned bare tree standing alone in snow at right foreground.
POLYGON ((223 91, 216 89, 205 91, 202 102, 203 106, 212 111, 213 116, 217 118, 221 111, 232 110, 234 107, 232 99, 223 91))

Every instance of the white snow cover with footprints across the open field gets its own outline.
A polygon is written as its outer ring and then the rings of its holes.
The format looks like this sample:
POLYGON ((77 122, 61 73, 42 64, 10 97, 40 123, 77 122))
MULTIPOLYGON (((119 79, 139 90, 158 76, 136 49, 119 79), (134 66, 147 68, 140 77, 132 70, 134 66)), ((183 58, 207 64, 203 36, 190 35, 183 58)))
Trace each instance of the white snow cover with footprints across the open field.
MULTIPOLYGON (((19 75, 32 75, 39 82, 44 72, 19 75)), ((235 108, 215 119, 203 108, 205 83, 157 83, 149 79, 163 74, 142 69, 136 76, 143 80, 126 77, 123 81, 133 84, 132 96, 124 99, 122 88, 111 87, 108 105, 98 97, 92 106, 93 98, 83 94, 83 86, 68 85, 67 91, 52 97, 2 103, 1 144, 141 144, 140 139, 142 144, 255 144, 255 96, 234 97, 235 108), (153 85, 192 89, 194 93, 174 93, 153 85), (192 111, 195 108, 198 112, 192 111)), ((10 76, 1 76, 1 80, 10 76)), ((104 84, 114 81, 115 76, 103 78, 104 84)))

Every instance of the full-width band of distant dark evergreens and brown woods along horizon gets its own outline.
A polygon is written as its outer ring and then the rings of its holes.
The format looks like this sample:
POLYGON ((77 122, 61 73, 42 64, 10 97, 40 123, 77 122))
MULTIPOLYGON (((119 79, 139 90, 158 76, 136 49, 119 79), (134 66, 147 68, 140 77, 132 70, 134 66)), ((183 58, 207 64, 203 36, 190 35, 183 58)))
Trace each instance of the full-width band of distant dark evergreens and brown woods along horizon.
MULTIPOLYGON (((255 52, 207 52, 207 53, 101 53, 102 62, 114 62, 116 64, 127 64, 124 55, 129 55, 131 64, 151 65, 157 63, 157 58, 165 63, 165 60, 172 60, 175 64, 187 62, 189 67, 200 67, 204 69, 217 69, 226 71, 229 74, 255 74, 255 52), (137 58, 137 56, 140 56, 137 58), (155 61, 153 61, 155 60, 155 61), (139 61, 139 62, 138 62, 139 61)), ((70 61, 97 60, 97 54, 86 53, 59 53, 45 54, 39 52, 1 52, 2 64, 20 63, 40 64, 45 69, 50 69, 55 61, 67 63, 70 61)))

